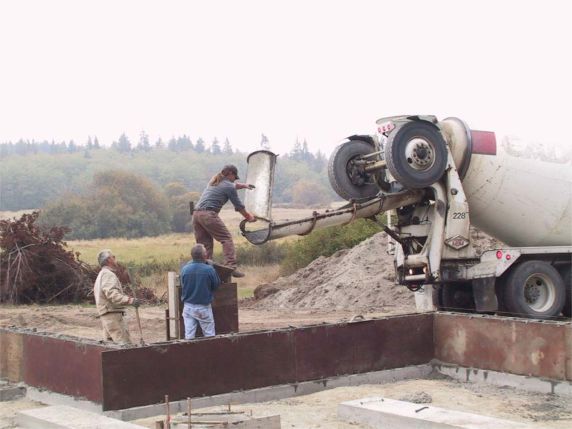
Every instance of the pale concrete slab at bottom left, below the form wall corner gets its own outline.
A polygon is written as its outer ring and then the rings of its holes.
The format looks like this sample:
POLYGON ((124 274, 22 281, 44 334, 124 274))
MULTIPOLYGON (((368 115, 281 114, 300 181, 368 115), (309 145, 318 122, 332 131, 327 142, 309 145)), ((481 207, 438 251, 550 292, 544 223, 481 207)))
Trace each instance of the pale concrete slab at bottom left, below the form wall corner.
POLYGON ((141 429, 143 427, 65 405, 20 411, 16 415, 16 423, 18 427, 25 429, 141 429))

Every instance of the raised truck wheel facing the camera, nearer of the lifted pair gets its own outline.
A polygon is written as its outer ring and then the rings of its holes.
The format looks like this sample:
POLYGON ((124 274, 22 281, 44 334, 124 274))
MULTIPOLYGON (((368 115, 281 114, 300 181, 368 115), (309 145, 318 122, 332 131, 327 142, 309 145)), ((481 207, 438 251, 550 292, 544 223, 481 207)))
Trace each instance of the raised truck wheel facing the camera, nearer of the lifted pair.
POLYGON ((385 160, 391 175, 408 189, 437 182, 447 167, 447 145, 437 128, 408 122, 389 136, 385 160))

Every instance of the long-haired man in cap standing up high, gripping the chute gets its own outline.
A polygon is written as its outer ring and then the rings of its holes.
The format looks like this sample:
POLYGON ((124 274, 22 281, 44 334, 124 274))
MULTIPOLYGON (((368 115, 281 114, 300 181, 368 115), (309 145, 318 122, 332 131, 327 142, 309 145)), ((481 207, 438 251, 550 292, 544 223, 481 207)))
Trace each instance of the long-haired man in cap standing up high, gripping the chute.
POLYGON ((236 182, 238 178, 238 169, 232 164, 224 166, 220 173, 213 176, 194 209, 193 231, 197 243, 204 244, 207 249, 207 259, 213 257, 214 239, 222 244, 224 265, 233 270, 232 276, 244 277, 244 273, 236 269, 236 252, 232 235, 218 215, 222 206, 230 200, 235 210, 248 222, 256 220, 251 213, 246 211, 236 192, 238 189, 252 189, 253 187, 236 182))

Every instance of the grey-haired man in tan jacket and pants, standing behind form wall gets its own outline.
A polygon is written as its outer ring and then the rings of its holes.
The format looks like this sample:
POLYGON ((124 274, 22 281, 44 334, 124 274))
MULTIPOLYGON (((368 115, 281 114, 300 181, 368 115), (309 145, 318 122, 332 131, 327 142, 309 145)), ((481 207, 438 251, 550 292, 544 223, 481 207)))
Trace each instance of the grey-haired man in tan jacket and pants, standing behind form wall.
POLYGON ((139 307, 140 301, 123 293, 121 282, 115 274, 118 268, 115 255, 111 250, 104 249, 97 255, 101 271, 95 280, 93 294, 99 319, 103 326, 103 340, 131 344, 129 331, 123 319, 125 306, 139 307))

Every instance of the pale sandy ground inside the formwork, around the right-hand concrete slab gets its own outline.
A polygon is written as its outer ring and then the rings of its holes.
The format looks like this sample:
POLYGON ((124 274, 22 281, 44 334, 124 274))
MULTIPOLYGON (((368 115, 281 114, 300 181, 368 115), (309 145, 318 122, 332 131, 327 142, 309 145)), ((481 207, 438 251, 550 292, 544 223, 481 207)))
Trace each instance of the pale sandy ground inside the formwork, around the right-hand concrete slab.
MULTIPOLYGON (((339 387, 311 395, 260 404, 233 405, 234 412, 255 417, 280 415, 283 428, 366 429, 367 426, 344 422, 337 417, 338 404, 366 397, 386 397, 414 403, 464 411, 530 424, 532 427, 569 428, 572 425, 572 401, 554 395, 529 393, 512 388, 460 383, 438 379, 406 380, 383 385, 339 387)), ((200 409, 226 411, 227 407, 200 409)), ((162 417, 133 423, 153 428, 162 417)))

